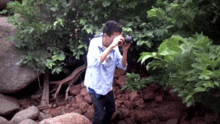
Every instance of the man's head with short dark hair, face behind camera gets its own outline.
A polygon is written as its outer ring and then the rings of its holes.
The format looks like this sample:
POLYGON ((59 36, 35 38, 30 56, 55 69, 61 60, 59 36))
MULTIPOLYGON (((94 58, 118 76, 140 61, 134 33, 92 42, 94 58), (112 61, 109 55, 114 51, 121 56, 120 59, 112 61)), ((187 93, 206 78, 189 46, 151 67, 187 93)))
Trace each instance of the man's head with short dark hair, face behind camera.
POLYGON ((105 47, 108 47, 113 39, 122 33, 122 26, 114 20, 107 21, 103 29, 105 47))

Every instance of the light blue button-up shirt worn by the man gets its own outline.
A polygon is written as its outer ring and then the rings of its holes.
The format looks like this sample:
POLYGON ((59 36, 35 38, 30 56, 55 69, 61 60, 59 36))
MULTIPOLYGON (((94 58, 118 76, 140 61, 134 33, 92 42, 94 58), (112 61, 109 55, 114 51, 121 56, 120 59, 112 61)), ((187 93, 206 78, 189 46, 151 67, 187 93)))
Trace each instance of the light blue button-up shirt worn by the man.
POLYGON ((100 62, 101 53, 104 52, 102 37, 90 41, 87 54, 87 69, 85 86, 92 88, 97 94, 106 95, 112 90, 115 68, 126 70, 122 65, 122 55, 118 47, 115 47, 107 59, 100 62))

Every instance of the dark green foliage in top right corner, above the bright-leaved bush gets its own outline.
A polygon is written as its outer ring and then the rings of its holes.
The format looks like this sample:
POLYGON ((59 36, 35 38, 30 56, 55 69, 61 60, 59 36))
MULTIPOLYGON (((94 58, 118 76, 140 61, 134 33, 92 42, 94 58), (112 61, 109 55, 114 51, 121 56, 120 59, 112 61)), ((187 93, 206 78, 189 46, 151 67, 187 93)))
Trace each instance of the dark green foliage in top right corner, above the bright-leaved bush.
POLYGON ((168 34, 190 37, 196 32, 204 32, 218 40, 219 4, 219 0, 157 0, 147 13, 151 21, 172 26, 168 34))

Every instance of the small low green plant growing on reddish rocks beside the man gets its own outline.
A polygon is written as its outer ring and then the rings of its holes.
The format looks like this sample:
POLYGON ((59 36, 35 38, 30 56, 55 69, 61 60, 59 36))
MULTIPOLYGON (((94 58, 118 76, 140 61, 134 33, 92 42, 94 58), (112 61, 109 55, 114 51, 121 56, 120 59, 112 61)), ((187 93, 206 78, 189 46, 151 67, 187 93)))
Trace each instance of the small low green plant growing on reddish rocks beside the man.
POLYGON ((146 79, 141 79, 139 74, 126 73, 126 75, 126 86, 124 86, 122 90, 131 89, 132 91, 139 91, 147 84, 146 79))

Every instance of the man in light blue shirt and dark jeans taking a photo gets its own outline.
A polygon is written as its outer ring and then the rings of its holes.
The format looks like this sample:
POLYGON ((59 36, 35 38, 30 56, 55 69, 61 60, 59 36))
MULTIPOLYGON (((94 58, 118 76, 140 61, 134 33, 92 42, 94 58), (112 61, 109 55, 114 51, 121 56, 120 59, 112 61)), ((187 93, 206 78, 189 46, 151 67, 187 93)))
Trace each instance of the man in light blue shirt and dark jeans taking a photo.
POLYGON ((107 21, 103 36, 94 38, 87 54, 85 86, 95 108, 93 124, 110 124, 115 112, 113 77, 115 68, 126 70, 127 53, 130 44, 125 43, 122 27, 119 23, 107 21), (118 46, 123 48, 123 56, 118 46))

